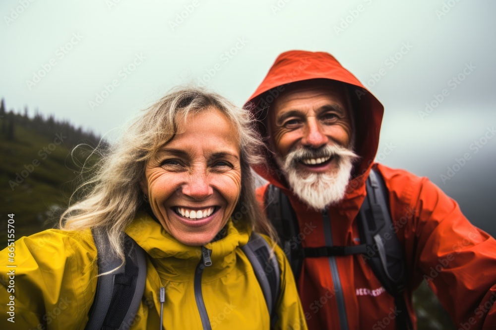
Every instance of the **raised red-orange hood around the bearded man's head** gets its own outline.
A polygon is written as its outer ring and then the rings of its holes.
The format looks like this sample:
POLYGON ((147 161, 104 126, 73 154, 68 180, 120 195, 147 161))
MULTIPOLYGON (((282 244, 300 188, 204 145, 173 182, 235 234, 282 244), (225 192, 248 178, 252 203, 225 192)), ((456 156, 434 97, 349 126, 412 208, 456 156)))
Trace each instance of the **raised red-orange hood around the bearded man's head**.
MULTIPOLYGON (((363 179, 367 178, 372 167, 379 143, 379 131, 384 107, 331 54, 321 51, 311 52, 304 50, 290 50, 280 54, 260 86, 258 86, 255 93, 248 99, 245 108, 259 117, 261 109, 258 104, 265 92, 297 81, 322 78, 345 84, 352 99, 356 130, 355 152, 357 152, 361 159, 356 164, 352 174, 354 180, 357 182, 349 185, 350 188, 353 187, 348 190, 348 193, 351 193, 363 186, 363 179)), ((270 104, 272 96, 267 96, 264 99, 270 104)), ((270 107, 268 111, 270 111, 270 107)), ((263 125, 258 125, 258 129, 262 136, 267 136, 263 125)), ((277 175, 280 172, 277 171, 277 165, 272 155, 267 153, 266 157, 268 158, 268 166, 255 166, 254 170, 271 184, 287 189, 284 178, 277 175)))

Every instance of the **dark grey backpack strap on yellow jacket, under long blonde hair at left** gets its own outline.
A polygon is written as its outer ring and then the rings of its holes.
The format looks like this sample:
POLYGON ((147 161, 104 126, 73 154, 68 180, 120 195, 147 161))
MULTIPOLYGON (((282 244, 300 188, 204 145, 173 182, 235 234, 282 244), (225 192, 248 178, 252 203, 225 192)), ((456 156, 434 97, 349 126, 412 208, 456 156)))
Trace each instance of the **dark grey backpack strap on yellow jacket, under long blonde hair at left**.
MULTIPOLYGON (((95 229, 92 229, 92 234, 98 251, 99 274, 119 267, 121 259, 112 253, 107 234, 95 229)), ((127 235, 124 253, 123 267, 98 277, 85 330, 129 329, 133 322, 145 288, 146 257, 144 250, 127 235)))

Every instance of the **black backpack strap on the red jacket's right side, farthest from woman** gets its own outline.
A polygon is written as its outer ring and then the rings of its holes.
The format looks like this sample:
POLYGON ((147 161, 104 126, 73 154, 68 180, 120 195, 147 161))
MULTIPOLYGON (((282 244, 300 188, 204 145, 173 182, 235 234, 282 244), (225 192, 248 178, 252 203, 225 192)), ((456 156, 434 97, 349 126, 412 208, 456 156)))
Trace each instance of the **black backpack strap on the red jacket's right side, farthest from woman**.
POLYGON ((413 329, 403 294, 406 287, 405 256, 393 230, 387 189, 378 171, 370 172, 366 189, 367 196, 358 217, 359 230, 362 242, 373 249, 364 253, 365 259, 401 311, 396 318, 397 329, 413 329))

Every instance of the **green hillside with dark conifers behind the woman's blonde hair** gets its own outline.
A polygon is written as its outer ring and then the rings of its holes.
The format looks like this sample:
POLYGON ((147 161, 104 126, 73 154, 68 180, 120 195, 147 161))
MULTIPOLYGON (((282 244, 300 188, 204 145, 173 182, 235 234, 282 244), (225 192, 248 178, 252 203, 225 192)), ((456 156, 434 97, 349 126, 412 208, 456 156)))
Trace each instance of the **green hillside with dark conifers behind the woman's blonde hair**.
MULTIPOLYGON (((16 239, 55 226, 54 211, 67 206, 89 154, 78 150, 71 156, 70 151, 78 143, 94 146, 97 141, 53 117, 30 119, 10 112, 0 118, 0 210, 4 218, 14 214, 16 239)), ((0 242, 5 246, 3 223, 0 242)))

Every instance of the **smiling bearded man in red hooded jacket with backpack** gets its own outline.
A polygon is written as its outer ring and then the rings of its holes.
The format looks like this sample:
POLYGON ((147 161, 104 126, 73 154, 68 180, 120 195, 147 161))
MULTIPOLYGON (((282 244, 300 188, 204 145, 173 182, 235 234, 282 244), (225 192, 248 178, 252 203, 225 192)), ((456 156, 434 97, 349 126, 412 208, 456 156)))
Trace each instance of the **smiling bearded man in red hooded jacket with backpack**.
POLYGON ((245 108, 309 329, 415 329, 422 281, 458 328, 496 329, 495 239, 427 178, 374 163, 383 106, 332 55, 282 53, 245 108))

